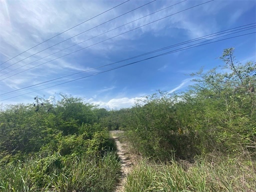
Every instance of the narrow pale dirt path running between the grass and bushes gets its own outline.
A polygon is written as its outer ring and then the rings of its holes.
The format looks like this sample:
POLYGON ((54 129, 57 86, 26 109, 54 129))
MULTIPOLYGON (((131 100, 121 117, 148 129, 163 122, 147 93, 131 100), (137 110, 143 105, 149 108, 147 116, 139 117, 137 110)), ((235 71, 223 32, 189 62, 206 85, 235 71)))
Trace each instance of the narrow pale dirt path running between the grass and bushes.
MULTIPOLYGON (((110 131, 112 138, 115 140, 117 147, 117 155, 121 159, 121 179, 117 184, 114 192, 122 192, 124 191, 124 184, 126 182, 127 174, 130 172, 131 168, 134 165, 134 158, 132 158, 132 154, 129 151, 128 143, 120 142, 120 134, 123 131, 121 130, 113 130, 110 131)), ((134 156, 133 156, 134 157, 134 156)))

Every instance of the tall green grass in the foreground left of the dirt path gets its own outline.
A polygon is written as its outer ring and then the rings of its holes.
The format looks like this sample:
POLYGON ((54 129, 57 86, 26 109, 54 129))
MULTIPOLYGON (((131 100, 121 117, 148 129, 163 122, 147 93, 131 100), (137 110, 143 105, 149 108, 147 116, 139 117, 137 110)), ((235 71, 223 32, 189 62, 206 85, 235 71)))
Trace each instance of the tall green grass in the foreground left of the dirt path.
MULTIPOLYGON (((58 154, 59 155, 59 154, 58 154)), ((74 156, 18 161, 0 167, 0 191, 113 191, 120 163, 112 152, 103 157, 74 156), (58 159, 58 158, 57 158, 58 159), (59 158, 61 159, 61 158, 59 158)))

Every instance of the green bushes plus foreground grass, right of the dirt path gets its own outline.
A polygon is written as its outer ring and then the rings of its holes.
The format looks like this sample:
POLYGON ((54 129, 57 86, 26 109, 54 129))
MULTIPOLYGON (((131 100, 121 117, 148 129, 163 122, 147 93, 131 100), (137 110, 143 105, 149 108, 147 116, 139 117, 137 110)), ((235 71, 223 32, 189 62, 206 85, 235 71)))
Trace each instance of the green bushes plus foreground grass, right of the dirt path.
POLYGON ((256 191, 256 65, 236 61, 233 48, 220 59, 223 66, 191 74, 186 91, 159 91, 116 112, 146 159, 128 175, 127 192, 256 191))

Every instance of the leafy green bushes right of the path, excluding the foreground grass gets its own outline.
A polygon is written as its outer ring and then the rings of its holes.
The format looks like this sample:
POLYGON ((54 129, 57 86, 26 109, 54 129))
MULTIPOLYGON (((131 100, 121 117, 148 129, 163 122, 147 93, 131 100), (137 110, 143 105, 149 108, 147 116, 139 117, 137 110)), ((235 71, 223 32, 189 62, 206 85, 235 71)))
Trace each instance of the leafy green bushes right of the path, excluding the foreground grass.
POLYGON ((139 100, 125 119, 135 150, 153 159, 171 154, 190 159, 221 151, 256 154, 256 65, 236 62, 233 48, 217 67, 192 73, 193 84, 179 94, 159 91, 139 100))

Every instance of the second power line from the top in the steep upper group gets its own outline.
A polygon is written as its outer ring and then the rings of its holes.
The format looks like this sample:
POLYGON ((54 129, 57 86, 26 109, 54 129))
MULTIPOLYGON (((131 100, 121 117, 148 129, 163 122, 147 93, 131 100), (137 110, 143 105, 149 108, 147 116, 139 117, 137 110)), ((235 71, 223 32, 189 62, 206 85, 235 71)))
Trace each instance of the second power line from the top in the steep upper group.
MULTIPOLYGON (((105 24, 105 23, 107 23, 107 22, 109 22, 109 21, 111 21, 111 20, 114 20, 115 18, 118 18, 118 17, 120 17, 120 16, 123 16, 124 14, 127 14, 127 13, 129 13, 129 12, 132 12, 133 10, 136 10, 136 9, 138 9, 138 8, 141 8, 141 7, 143 7, 143 6, 145 6, 145 5, 149 4, 149 3, 152 3, 152 2, 154 2, 154 1, 156 1, 156 0, 152 0, 152 1, 148 2, 148 3, 146 3, 146 4, 143 4, 143 5, 141 5, 141 6, 137 7, 137 8, 134 8, 134 9, 128 11, 128 12, 125 12, 125 13, 123 13, 123 14, 120 14, 119 16, 116 16, 116 17, 114 17, 114 18, 112 18, 112 19, 110 19, 110 20, 107 20, 107 21, 105 21, 105 22, 102 22, 101 24, 98 24, 98 25, 96 25, 96 26, 94 26, 94 27, 92 27, 92 28, 89 28, 89 29, 87 29, 87 30, 85 30, 85 31, 83 31, 83 32, 80 32, 80 33, 78 33, 78 34, 76 34, 76 35, 74 35, 74 36, 71 36, 71 37, 69 37, 69 38, 67 38, 67 39, 65 39, 65 40, 62 40, 62 41, 60 41, 60 42, 58 42, 58 43, 56 43, 56 44, 53 44, 53 45, 51 45, 51 46, 49 46, 49 47, 47 47, 47 48, 44 48, 44 49, 42 49, 42 50, 40 50, 40 51, 38 51, 38 52, 36 52, 36 53, 34 53, 34 54, 31 54, 30 56, 27 56, 27 57, 25 57, 25 58, 23 58, 23 59, 21 59, 21 60, 19 60, 19 61, 17 61, 17 62, 14 62, 13 64, 11 64, 11 65, 9 65, 9 66, 6 66, 5 68, 8 68, 8 67, 10 67, 10 66, 12 66, 12 65, 14 65, 14 64, 16 64, 16 63, 22 61, 22 60, 25 60, 25 59, 27 59, 27 58, 29 58, 29 57, 31 57, 31 56, 33 56, 33 55, 39 53, 39 52, 42 52, 42 51, 44 51, 44 50, 46 50, 46 49, 49 49, 49 48, 51 48, 51 47, 53 47, 53 46, 55 46, 55 45, 57 45, 57 44, 60 44, 60 43, 62 43, 62 42, 65 42, 65 41, 67 41, 67 40, 69 40, 69 39, 71 39, 71 38, 73 38, 73 37, 75 37, 75 36, 78 36, 78 35, 80 35, 80 34, 82 34, 82 33, 84 33, 84 32, 87 32, 87 31, 89 31, 89 30, 91 30, 91 29, 93 29, 93 28, 96 28, 96 27, 98 27, 98 26, 100 26, 100 25, 102 25, 102 24, 105 24)), ((4 70, 5 68, 1 69, 0 71, 4 70)))

